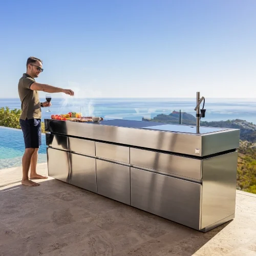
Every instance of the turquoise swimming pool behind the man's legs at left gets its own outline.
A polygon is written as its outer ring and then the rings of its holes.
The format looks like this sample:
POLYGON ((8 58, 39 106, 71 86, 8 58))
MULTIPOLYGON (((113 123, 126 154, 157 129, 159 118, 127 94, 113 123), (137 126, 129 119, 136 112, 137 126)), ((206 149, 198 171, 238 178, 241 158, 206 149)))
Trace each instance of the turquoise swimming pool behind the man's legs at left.
MULTIPOLYGON (((22 130, 0 126, 0 169, 22 165, 25 145, 22 130)), ((46 136, 38 151, 38 163, 47 162, 46 136)))

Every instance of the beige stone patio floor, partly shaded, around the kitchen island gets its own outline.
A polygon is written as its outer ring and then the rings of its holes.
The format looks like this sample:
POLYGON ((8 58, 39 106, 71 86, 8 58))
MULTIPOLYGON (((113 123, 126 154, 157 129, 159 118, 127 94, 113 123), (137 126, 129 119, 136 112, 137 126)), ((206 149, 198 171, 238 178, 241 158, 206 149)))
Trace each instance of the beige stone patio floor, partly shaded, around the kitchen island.
POLYGON ((52 178, 20 185, 20 172, 0 170, 1 256, 256 255, 256 195, 237 191, 236 218, 202 233, 52 178))

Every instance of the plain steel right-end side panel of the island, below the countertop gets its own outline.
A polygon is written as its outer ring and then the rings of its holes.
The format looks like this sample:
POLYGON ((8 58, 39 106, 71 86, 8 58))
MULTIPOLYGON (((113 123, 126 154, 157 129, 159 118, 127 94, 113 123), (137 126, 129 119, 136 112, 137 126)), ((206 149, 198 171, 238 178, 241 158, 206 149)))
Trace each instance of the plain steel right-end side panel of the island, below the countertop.
POLYGON ((203 160, 202 228, 234 214, 238 152, 203 160))

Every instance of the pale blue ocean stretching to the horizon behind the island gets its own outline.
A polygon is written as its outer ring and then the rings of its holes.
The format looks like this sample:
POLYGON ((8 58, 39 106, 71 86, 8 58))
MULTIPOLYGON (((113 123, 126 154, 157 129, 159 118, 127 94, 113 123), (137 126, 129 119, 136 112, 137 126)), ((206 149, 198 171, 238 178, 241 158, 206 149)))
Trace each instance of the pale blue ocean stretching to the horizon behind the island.
MULTIPOLYGON (((41 98, 41 101, 46 101, 41 98)), ((83 116, 101 116, 104 119, 141 120, 153 118, 158 114, 180 111, 195 115, 195 98, 54 98, 51 112, 42 109, 42 119, 53 114, 80 112, 83 116)), ((8 106, 20 109, 18 98, 0 98, 0 108, 8 106)), ((201 104, 202 108, 202 104, 201 104)), ((205 99, 206 115, 203 121, 225 121, 242 119, 256 124, 256 99, 205 99)), ((201 119, 202 120, 202 119, 201 119)))

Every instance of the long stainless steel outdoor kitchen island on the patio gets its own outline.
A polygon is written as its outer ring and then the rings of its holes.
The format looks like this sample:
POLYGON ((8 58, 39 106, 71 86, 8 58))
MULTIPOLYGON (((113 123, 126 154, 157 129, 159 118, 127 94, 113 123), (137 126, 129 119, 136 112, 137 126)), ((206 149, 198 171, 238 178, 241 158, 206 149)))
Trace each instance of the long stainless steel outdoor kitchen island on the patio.
POLYGON ((45 119, 49 176, 206 232, 234 218, 240 130, 45 119))

